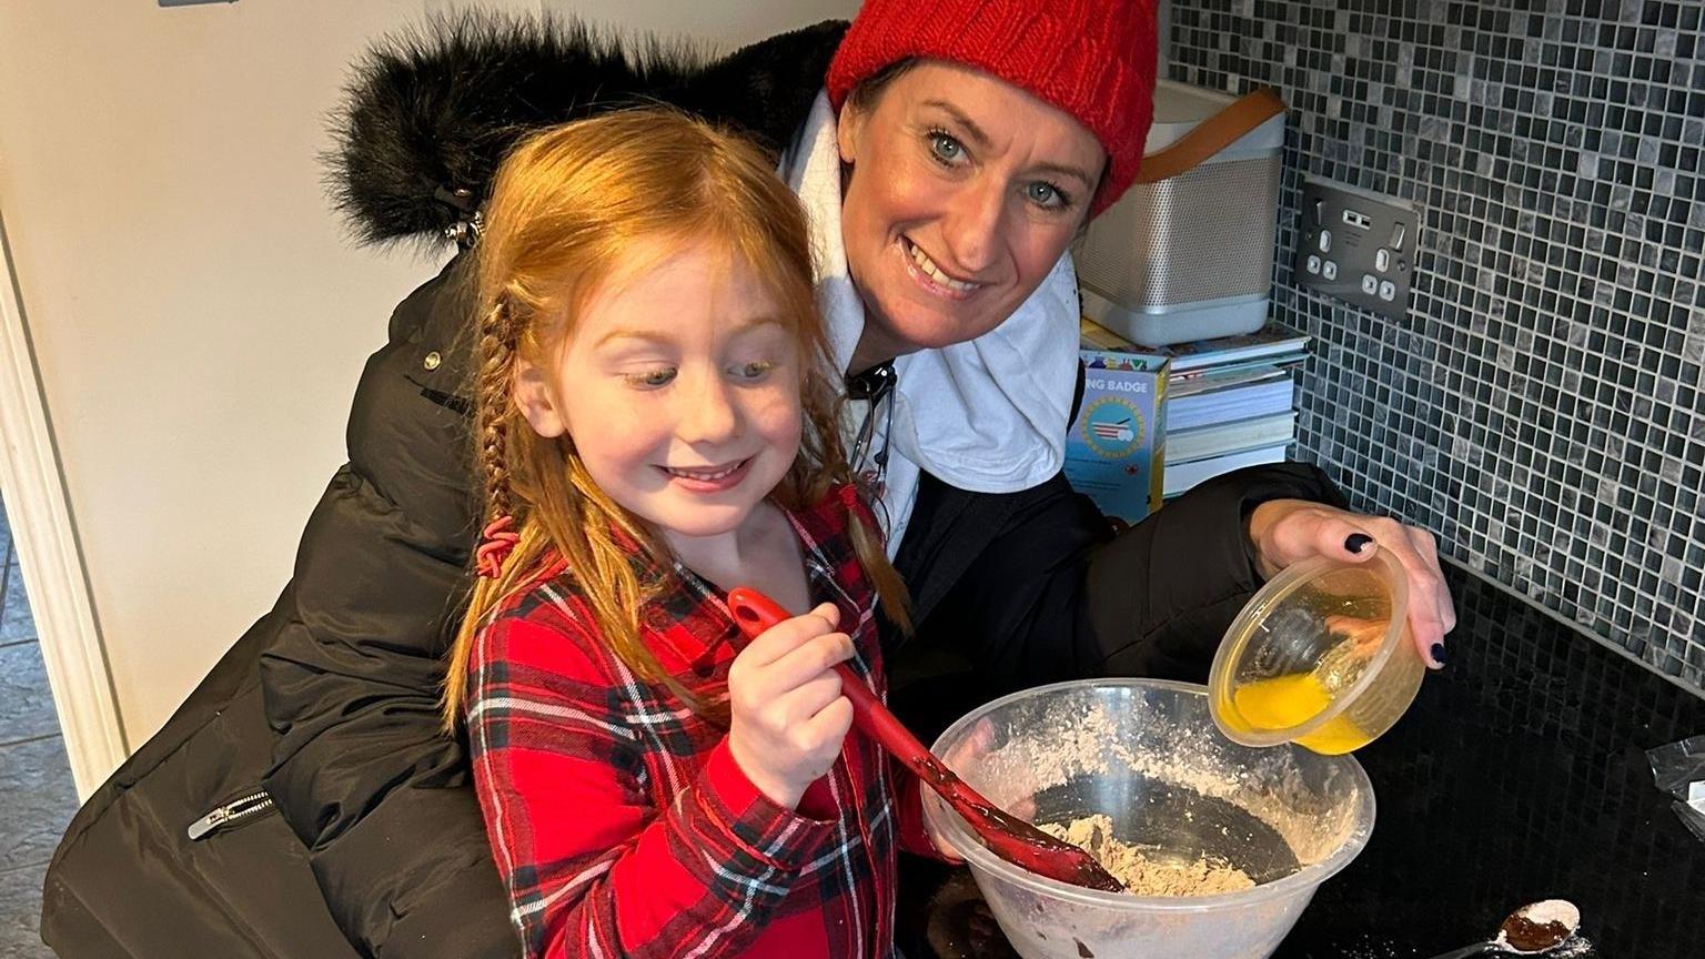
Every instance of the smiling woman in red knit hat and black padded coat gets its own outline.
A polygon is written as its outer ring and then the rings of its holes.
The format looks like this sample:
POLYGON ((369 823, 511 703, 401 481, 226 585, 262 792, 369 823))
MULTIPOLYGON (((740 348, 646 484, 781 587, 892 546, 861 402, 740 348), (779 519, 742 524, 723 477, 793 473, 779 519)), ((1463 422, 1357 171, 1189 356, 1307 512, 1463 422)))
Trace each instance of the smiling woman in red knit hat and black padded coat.
MULTIPOLYGON (((1425 597, 1413 626, 1437 665, 1454 618, 1430 538, 1344 512, 1320 471, 1222 478, 1118 538, 1059 473, 1078 384, 1064 251, 1141 159, 1153 9, 870 0, 841 32, 643 70, 575 31, 464 20, 406 39, 355 90, 344 205, 367 239, 471 244, 520 131, 648 99, 786 147, 837 358, 864 398, 849 445, 885 481, 914 597, 893 701, 926 739, 1049 679, 1200 679, 1260 582, 1321 553, 1393 551, 1425 597)), ((392 317, 355 401, 351 462, 278 607, 66 833, 43 920, 61 954, 356 954, 339 930, 387 959, 513 954, 465 754, 436 727, 476 529, 467 259, 392 317), (201 817, 211 807, 225 812, 201 817), (186 841, 191 821, 201 838, 186 841)))

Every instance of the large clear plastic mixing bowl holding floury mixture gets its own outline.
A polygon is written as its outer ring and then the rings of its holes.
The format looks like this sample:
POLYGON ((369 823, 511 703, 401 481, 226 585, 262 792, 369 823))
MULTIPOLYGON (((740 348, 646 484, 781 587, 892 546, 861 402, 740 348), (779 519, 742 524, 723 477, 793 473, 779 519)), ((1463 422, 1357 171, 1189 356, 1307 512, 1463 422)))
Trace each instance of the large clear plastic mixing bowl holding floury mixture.
POLYGON ((1219 735, 1202 686, 1059 683, 996 700, 934 751, 992 802, 1035 822, 1107 814, 1113 834, 1185 862, 1219 857, 1257 886, 1216 896, 1098 892, 1043 879, 977 845, 934 793, 924 816, 970 865, 1025 959, 1265 959, 1374 824, 1349 756, 1251 749, 1219 735))

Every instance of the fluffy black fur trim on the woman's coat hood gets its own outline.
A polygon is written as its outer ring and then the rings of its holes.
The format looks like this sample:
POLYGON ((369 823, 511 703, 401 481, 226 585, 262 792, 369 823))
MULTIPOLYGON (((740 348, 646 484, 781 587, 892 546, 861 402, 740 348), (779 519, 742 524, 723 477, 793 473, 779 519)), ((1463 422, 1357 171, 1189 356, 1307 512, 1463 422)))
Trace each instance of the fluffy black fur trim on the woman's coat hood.
POLYGON ((327 191, 360 242, 443 242, 530 130, 668 102, 779 152, 810 111, 846 24, 825 20, 709 60, 580 20, 462 14, 375 43, 332 114, 327 191))

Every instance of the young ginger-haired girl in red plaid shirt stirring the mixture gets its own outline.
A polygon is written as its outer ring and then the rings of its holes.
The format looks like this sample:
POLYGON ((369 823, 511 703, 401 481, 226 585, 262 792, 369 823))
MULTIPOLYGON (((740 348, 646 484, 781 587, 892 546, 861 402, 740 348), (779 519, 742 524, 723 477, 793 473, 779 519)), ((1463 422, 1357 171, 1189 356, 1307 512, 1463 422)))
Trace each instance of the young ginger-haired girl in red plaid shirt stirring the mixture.
POLYGON ((917 785, 849 734, 904 590, 851 485, 803 215, 663 111, 547 130, 479 246, 489 526, 447 720, 527 956, 883 957, 917 785), (793 619, 737 654, 723 604, 793 619), (902 829, 902 804, 905 795, 902 829))

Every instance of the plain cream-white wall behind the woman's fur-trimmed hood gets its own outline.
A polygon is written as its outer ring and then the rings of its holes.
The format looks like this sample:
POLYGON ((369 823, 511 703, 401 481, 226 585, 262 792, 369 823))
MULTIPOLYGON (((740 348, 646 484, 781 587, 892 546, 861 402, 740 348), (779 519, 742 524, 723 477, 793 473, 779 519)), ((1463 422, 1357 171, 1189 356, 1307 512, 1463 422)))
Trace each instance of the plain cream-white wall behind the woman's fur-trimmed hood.
MULTIPOLYGON (((720 49, 856 0, 539 0, 720 49)), ((344 67, 438 0, 0 3, 0 212, 131 747, 290 575, 394 302, 315 155, 344 67)), ((53 636, 43 636, 53 642, 53 636)))

